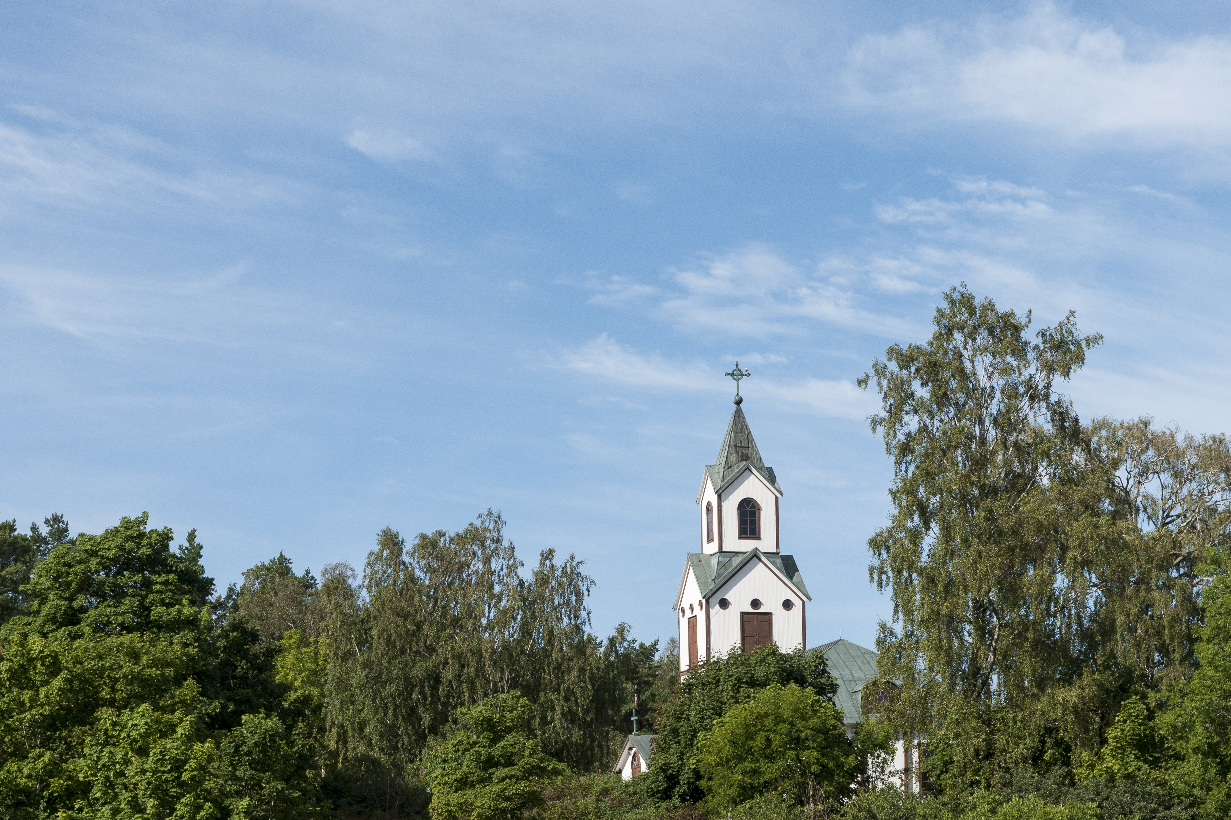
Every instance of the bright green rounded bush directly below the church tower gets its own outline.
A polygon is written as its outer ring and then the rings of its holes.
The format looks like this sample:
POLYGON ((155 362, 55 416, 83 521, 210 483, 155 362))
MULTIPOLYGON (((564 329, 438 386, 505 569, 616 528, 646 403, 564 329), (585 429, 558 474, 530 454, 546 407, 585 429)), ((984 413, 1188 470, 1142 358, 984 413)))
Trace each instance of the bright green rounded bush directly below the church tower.
POLYGON ((709 813, 766 794, 810 809, 835 806, 862 763, 838 708, 795 684, 772 684, 731 706, 697 738, 697 749, 709 813))

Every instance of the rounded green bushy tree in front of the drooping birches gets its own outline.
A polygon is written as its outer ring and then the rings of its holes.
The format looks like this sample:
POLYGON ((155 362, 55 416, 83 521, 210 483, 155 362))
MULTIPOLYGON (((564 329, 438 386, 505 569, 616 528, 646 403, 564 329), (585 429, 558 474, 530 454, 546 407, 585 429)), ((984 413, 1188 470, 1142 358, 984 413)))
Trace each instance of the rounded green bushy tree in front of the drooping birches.
POLYGON ((506 820, 543 802, 543 787, 565 766, 527 736, 529 702, 497 695, 459 713, 460 729, 425 761, 432 820, 506 820))

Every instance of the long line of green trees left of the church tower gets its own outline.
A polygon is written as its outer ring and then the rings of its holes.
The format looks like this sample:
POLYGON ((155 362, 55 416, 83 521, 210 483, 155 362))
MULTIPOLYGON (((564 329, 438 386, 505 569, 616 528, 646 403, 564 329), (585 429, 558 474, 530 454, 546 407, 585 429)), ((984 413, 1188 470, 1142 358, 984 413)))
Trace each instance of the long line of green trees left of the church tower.
POLYGON ((5 818, 426 816, 430 752, 475 708, 516 716, 540 775, 591 772, 634 684, 650 709, 675 688, 656 644, 590 632, 580 562, 523 572, 496 513, 385 529, 362 575, 279 554, 222 595, 194 531, 44 526, 0 525, 5 818))

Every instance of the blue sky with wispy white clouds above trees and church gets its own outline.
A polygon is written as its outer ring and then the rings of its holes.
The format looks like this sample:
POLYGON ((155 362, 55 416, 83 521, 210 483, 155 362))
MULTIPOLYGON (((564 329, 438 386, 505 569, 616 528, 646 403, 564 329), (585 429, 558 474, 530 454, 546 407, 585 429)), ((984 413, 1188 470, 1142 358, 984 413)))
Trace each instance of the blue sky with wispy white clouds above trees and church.
POLYGON ((1083 417, 1227 428, 1216 5, 0 9, 0 515, 197 527, 220 585, 499 508, 672 633, 744 404, 809 637, 872 645, 854 380, 966 282, 1107 343, 1083 417))

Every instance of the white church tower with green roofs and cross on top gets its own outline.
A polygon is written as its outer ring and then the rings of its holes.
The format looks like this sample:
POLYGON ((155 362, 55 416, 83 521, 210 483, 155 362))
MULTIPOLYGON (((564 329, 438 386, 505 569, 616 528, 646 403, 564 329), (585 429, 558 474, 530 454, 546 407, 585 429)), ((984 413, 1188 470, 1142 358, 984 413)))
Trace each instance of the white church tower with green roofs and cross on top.
POLYGON ((676 593, 680 623, 680 674, 710 658, 767 643, 790 652, 808 648, 806 604, 811 600, 795 559, 782 552, 778 515, 782 487, 767 467, 740 404, 718 451, 702 472, 698 552, 684 559, 676 593))

